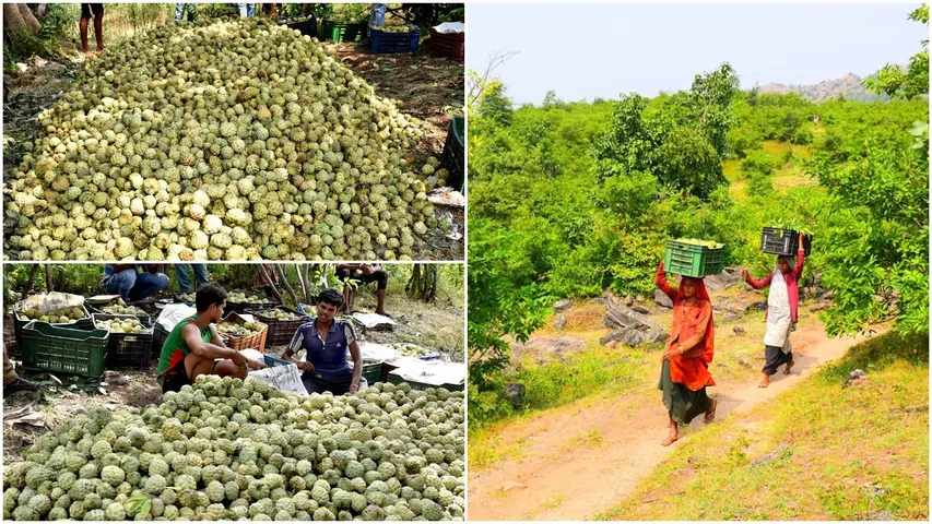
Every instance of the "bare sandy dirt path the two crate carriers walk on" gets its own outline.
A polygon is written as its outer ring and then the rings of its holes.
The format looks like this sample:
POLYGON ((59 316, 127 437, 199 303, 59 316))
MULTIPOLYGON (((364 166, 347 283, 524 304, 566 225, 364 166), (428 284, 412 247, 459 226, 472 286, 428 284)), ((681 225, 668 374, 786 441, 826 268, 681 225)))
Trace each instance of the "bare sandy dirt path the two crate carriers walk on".
MULTIPOLYGON (((774 376, 768 389, 748 382, 710 390, 719 400, 717 419, 772 400, 862 340, 828 338, 815 327, 797 332, 793 373, 774 376)), ((617 504, 675 446, 659 444, 666 432, 666 414, 654 384, 651 377, 635 394, 607 397, 585 408, 583 400, 507 428, 500 440, 524 442, 523 458, 470 472, 470 520, 585 521, 617 504), (579 438, 586 434, 599 437, 579 438)), ((684 437, 691 438, 701 426, 697 417, 684 437)))

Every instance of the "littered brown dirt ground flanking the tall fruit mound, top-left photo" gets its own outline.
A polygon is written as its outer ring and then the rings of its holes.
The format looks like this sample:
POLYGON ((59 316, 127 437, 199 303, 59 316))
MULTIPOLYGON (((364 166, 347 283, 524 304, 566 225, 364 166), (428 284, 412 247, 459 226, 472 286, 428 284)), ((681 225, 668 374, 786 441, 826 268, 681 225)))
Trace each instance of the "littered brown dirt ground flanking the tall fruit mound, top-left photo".
MULTIPOLYGON (((373 55, 364 52, 361 44, 326 44, 343 63, 373 84, 379 96, 394 99, 402 111, 421 119, 424 142, 414 152, 420 165, 424 157, 444 152, 444 143, 455 112, 462 112, 463 62, 432 57, 426 48, 415 55, 373 55)), ((422 46, 424 47, 424 46, 422 46)), ((74 82, 83 67, 80 55, 28 61, 24 73, 3 75, 3 179, 19 165, 25 153, 24 143, 31 143, 40 131, 36 117, 50 107, 74 82)), ((464 214, 461 207, 439 207, 438 219, 448 219, 461 238, 448 238, 435 229, 424 237, 424 243, 414 253, 416 260, 463 260, 464 214)), ((15 218, 4 216, 5 237, 15 218)), ((9 258, 9 257, 8 257, 9 258)))

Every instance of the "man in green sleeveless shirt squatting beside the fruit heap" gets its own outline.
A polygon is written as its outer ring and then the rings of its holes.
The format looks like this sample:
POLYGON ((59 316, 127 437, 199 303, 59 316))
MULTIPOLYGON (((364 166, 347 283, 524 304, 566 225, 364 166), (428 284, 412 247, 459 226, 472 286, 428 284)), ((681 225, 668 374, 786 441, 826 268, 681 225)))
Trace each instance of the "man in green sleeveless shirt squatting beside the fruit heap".
POLYGON ((220 322, 226 307, 226 291, 222 287, 212 283, 201 286, 194 296, 194 307, 198 312, 178 322, 162 345, 156 380, 163 392, 180 391, 202 374, 245 379, 249 368, 266 367, 226 347, 217 335, 214 324, 220 322))

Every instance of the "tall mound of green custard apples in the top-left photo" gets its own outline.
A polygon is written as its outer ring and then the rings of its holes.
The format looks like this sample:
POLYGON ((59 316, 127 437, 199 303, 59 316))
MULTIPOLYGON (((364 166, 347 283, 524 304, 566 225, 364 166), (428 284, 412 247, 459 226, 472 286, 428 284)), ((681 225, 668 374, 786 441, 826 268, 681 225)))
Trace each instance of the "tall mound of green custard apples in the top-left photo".
POLYGON ((262 19, 108 48, 42 124, 4 188, 20 260, 410 260, 449 226, 415 119, 262 19))

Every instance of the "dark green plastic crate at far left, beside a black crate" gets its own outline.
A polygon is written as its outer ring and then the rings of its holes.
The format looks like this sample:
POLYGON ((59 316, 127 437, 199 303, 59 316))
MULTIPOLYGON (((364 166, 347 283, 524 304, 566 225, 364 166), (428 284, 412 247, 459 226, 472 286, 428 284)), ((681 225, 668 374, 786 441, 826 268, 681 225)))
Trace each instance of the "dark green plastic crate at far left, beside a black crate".
POLYGON ((57 327, 34 320, 23 326, 23 367, 101 378, 109 343, 108 331, 57 327))

